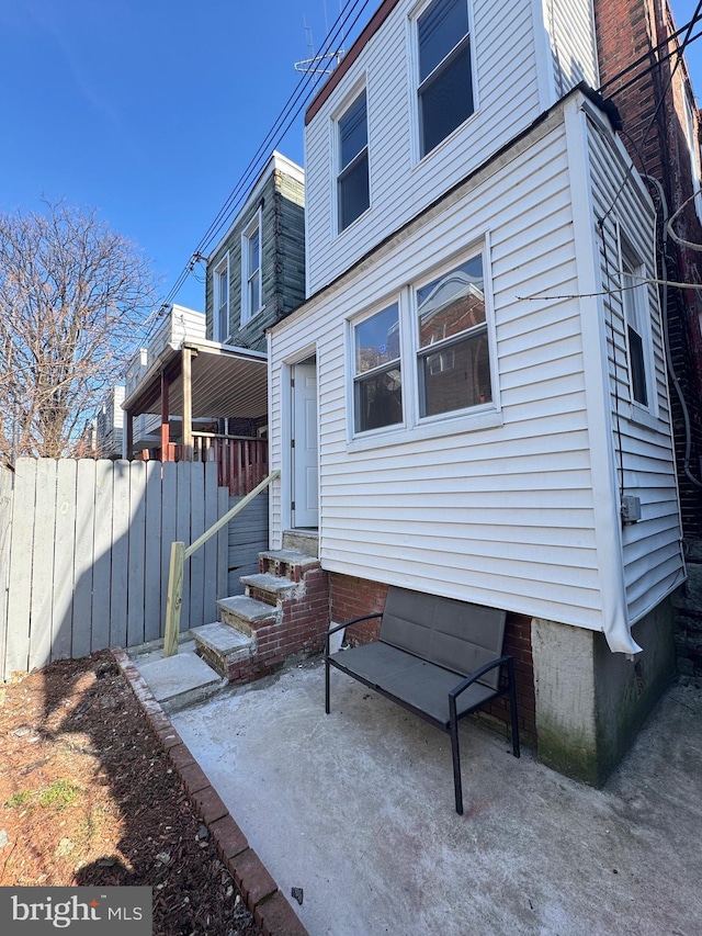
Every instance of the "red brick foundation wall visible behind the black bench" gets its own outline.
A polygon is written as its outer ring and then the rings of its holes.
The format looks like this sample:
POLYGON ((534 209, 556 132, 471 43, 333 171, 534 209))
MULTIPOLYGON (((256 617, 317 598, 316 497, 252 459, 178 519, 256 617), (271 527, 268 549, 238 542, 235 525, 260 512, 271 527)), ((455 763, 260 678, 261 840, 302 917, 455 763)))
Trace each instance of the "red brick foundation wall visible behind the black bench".
MULTIPOLYGON (((329 575, 329 598, 331 620, 340 624, 351 618, 382 611, 387 597, 387 585, 370 582, 352 575, 329 575)), ((376 640, 380 621, 364 621, 347 631, 352 644, 376 640)), ((534 696, 534 665, 531 654, 531 618, 523 614, 507 614, 505 633, 505 653, 514 657, 514 681, 517 684, 517 704, 519 707, 520 737, 526 745, 536 744, 536 701, 534 696)), ((499 731, 509 723, 509 702, 498 699, 478 713, 478 719, 492 722, 499 731), (495 724, 497 722, 497 724, 495 724)))

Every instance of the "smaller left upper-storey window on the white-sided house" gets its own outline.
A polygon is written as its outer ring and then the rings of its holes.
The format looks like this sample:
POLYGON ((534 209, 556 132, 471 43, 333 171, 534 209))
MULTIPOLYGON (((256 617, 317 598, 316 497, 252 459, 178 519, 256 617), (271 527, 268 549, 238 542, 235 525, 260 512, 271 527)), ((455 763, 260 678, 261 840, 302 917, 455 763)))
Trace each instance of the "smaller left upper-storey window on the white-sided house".
POLYGON ((339 120, 339 232, 344 230, 371 204, 369 189, 369 123, 365 91, 339 120))

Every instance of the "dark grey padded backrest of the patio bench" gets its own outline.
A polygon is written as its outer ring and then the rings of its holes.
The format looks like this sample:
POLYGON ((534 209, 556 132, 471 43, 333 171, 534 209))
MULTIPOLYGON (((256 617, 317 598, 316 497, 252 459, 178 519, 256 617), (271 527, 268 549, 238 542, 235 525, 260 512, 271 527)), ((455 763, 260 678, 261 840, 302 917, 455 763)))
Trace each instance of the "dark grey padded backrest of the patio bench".
MULTIPOLYGON (((502 655, 506 612, 390 586, 380 639, 429 663, 468 676, 502 655)), ((498 688, 499 667, 479 681, 498 688)))

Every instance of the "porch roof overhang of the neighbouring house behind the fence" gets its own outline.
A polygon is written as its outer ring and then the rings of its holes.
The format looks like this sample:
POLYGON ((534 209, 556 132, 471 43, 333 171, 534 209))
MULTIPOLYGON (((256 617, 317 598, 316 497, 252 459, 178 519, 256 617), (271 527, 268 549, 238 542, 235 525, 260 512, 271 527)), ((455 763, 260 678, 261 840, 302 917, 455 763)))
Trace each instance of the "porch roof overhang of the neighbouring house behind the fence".
POLYGON ((168 409, 183 411, 182 351, 192 352, 193 418, 237 417, 259 419, 268 411, 268 358, 260 351, 216 341, 185 340, 168 345, 148 369, 137 388, 122 404, 133 417, 161 411, 161 374, 168 380, 168 409))

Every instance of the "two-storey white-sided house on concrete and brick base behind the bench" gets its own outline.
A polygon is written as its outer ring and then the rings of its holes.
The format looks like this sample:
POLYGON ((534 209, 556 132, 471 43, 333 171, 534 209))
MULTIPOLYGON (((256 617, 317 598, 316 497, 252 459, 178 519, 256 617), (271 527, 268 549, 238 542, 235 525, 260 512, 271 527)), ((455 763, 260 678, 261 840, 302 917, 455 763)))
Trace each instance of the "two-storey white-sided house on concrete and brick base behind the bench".
POLYGON ((318 530, 335 621, 505 609, 524 734, 596 783, 686 577, 656 208, 599 84, 589 0, 385 0, 307 111, 269 332, 272 548, 318 530))

